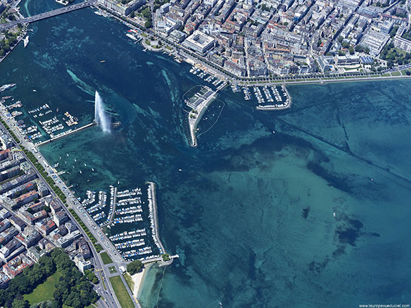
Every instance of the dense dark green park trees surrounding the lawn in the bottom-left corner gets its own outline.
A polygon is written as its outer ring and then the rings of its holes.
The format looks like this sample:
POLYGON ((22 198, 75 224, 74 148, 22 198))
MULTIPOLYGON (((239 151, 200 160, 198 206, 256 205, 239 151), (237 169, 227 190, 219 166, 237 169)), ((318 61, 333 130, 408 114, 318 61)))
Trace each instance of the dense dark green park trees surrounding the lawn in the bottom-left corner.
POLYGON ((55 285, 51 307, 61 308, 62 305, 68 305, 81 308, 99 299, 90 282, 77 270, 69 255, 61 248, 54 248, 49 255, 41 257, 32 268, 25 268, 21 274, 12 279, 7 289, 0 290, 0 305, 8 308, 28 308, 23 294, 33 292, 56 270, 62 274, 62 277, 55 285))

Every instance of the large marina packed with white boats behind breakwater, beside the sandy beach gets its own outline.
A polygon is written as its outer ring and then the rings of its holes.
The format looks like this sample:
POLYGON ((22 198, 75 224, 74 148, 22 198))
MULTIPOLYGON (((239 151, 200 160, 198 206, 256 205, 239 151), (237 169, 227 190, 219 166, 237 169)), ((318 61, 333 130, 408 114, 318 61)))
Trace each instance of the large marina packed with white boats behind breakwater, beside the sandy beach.
POLYGON ((88 190, 86 198, 77 205, 126 261, 156 259, 164 253, 158 238, 154 184, 147 183, 145 187, 117 190, 110 186, 110 192, 88 190))

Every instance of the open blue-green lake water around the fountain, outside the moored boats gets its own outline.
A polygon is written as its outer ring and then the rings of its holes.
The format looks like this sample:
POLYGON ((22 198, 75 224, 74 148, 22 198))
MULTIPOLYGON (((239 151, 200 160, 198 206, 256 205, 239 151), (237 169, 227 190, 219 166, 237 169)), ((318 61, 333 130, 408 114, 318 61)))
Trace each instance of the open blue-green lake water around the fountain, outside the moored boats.
POLYGON ((410 81, 290 86, 284 112, 226 90, 192 149, 179 99, 201 81, 188 65, 142 52, 90 9, 34 29, 1 64, 1 83, 16 82, 27 109, 47 102, 84 123, 97 89, 122 123, 42 147, 49 162, 68 153, 60 170, 74 158, 95 168, 63 175, 79 196, 158 184, 161 238, 180 258, 149 270, 143 307, 411 302, 410 81))

